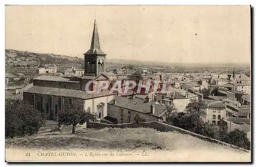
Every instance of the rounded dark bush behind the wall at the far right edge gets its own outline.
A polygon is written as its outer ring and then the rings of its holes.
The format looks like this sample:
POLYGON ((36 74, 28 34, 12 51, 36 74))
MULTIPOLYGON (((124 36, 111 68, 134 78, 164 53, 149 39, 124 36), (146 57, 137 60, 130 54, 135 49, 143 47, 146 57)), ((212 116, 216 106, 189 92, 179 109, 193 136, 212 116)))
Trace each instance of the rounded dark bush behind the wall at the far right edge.
POLYGON ((228 133, 225 137, 223 142, 229 143, 231 145, 235 145, 247 150, 250 150, 250 141, 246 137, 244 132, 241 132, 237 129, 228 133))

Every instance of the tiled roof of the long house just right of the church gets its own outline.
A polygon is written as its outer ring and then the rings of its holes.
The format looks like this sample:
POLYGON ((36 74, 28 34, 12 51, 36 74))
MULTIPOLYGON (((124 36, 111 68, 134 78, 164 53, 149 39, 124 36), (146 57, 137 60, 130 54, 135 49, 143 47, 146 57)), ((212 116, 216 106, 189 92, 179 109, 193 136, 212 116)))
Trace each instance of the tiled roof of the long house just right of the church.
POLYGON ((139 113, 144 113, 147 115, 152 115, 155 117, 159 117, 163 112, 166 110, 166 106, 162 104, 156 104, 155 102, 145 102, 144 99, 135 97, 133 99, 132 96, 115 96, 108 104, 115 105, 118 107, 134 110, 139 113), (116 104, 114 104, 114 100, 116 100, 116 104), (151 104, 155 105, 155 113, 152 114, 151 111, 151 104))

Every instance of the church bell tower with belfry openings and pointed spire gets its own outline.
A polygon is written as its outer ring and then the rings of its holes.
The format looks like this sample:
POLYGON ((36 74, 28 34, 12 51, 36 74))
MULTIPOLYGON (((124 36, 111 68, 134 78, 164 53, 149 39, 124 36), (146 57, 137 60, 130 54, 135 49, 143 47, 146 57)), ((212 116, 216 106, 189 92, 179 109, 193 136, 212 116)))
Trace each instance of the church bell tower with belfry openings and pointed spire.
POLYGON ((106 54, 100 49, 96 19, 94 20, 91 48, 84 53, 84 75, 98 76, 105 72, 106 54))

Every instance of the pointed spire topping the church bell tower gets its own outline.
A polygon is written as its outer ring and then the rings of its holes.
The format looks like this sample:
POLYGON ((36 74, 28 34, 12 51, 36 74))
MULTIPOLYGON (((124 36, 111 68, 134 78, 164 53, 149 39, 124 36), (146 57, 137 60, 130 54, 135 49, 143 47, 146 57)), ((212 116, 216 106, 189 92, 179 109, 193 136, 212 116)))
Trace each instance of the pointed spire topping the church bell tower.
POLYGON ((101 49, 99 44, 99 34, 98 34, 98 27, 96 23, 96 15, 94 20, 94 27, 93 27, 93 36, 91 42, 91 48, 86 52, 86 54, 104 54, 106 55, 101 49))

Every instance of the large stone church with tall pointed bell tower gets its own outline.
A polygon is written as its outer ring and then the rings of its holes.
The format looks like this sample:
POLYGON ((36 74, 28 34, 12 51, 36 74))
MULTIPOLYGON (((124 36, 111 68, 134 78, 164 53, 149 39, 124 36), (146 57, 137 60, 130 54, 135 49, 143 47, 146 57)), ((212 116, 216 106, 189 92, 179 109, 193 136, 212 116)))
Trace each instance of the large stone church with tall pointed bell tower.
MULTIPOLYGON (((84 75, 74 78, 42 75, 34 78, 33 86, 23 94, 24 100, 29 101, 44 113, 45 119, 49 120, 55 119, 58 111, 69 104, 80 105, 81 111, 97 113, 99 120, 108 116, 107 103, 114 98, 115 94, 109 90, 86 92, 86 84, 89 81, 97 83, 109 80, 105 74, 105 57, 106 54, 100 49, 95 19, 91 47, 84 53, 84 75)), ((95 89, 94 87, 95 84, 92 84, 89 89, 95 89)))

